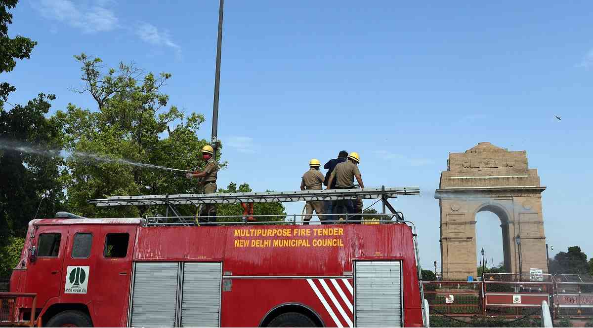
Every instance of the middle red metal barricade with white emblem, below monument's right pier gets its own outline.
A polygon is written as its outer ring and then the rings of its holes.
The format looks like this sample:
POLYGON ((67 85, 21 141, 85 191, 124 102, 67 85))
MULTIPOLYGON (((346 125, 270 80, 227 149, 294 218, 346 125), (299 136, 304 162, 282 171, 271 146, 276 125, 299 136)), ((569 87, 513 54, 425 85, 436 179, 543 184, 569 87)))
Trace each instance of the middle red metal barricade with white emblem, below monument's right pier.
MULTIPOLYGON (((551 275, 490 274, 483 276, 483 307, 486 316, 520 317, 550 303, 551 275)), ((535 314, 534 317, 539 317, 535 314)))

